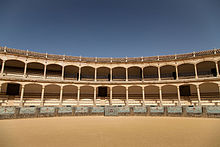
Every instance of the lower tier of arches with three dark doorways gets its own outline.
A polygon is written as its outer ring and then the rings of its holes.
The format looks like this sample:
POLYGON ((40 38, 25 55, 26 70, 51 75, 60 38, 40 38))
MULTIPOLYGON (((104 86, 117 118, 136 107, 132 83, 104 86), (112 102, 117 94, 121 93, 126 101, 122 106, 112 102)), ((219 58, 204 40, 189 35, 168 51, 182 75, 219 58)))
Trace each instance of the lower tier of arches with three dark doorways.
POLYGON ((97 105, 100 101, 105 101, 107 105, 114 105, 115 100, 121 101, 121 104, 124 105, 137 103, 145 105, 150 101, 160 105, 167 102, 175 105, 194 102, 200 105, 203 102, 219 101, 219 88, 216 83, 161 86, 77 86, 37 83, 24 85, 6 82, 1 84, 0 89, 2 100, 18 100, 20 105, 31 100, 38 100, 40 105, 51 103, 51 101, 54 101, 56 105, 63 105, 68 101, 74 101, 75 105, 79 105, 83 101, 90 101, 92 105, 97 105), (17 93, 10 93, 10 88, 13 88, 13 92, 17 91, 17 93))

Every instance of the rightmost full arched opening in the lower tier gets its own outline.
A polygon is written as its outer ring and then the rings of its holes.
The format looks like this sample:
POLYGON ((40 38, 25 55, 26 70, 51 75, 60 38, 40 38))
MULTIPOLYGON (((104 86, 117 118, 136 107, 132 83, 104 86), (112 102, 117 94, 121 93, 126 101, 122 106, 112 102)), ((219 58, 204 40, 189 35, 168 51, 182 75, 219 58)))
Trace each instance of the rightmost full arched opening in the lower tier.
POLYGON ((219 87, 216 83, 199 85, 201 100, 219 100, 219 87))

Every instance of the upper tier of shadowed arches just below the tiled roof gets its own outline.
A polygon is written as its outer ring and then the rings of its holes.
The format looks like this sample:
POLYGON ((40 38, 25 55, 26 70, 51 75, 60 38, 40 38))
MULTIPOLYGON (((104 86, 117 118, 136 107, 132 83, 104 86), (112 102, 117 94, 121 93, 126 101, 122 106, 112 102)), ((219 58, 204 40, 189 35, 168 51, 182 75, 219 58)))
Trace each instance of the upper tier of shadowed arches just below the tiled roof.
MULTIPOLYGON (((220 61, 219 61, 220 62, 220 61)), ((38 62, 24 63, 19 60, 0 60, 1 74, 26 78, 48 78, 82 81, 149 81, 204 78, 219 76, 219 62, 202 61, 180 65, 98 67, 59 64, 44 65, 38 62)))

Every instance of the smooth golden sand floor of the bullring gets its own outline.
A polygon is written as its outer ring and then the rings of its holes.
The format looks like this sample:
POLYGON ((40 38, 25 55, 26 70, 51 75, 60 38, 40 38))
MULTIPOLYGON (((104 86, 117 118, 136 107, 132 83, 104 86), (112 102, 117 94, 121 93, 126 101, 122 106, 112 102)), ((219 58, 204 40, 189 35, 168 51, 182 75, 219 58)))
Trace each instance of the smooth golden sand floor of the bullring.
POLYGON ((220 119, 54 117, 0 121, 0 147, 220 147, 220 119))

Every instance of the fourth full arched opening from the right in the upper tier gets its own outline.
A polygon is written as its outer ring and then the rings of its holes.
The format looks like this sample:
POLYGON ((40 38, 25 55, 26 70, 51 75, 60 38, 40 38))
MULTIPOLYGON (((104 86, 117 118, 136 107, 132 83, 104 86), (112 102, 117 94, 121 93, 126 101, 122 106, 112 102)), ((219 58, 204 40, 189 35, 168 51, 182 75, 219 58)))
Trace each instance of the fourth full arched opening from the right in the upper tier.
POLYGON ((158 67, 155 66, 147 66, 144 67, 144 80, 158 80, 158 67))

